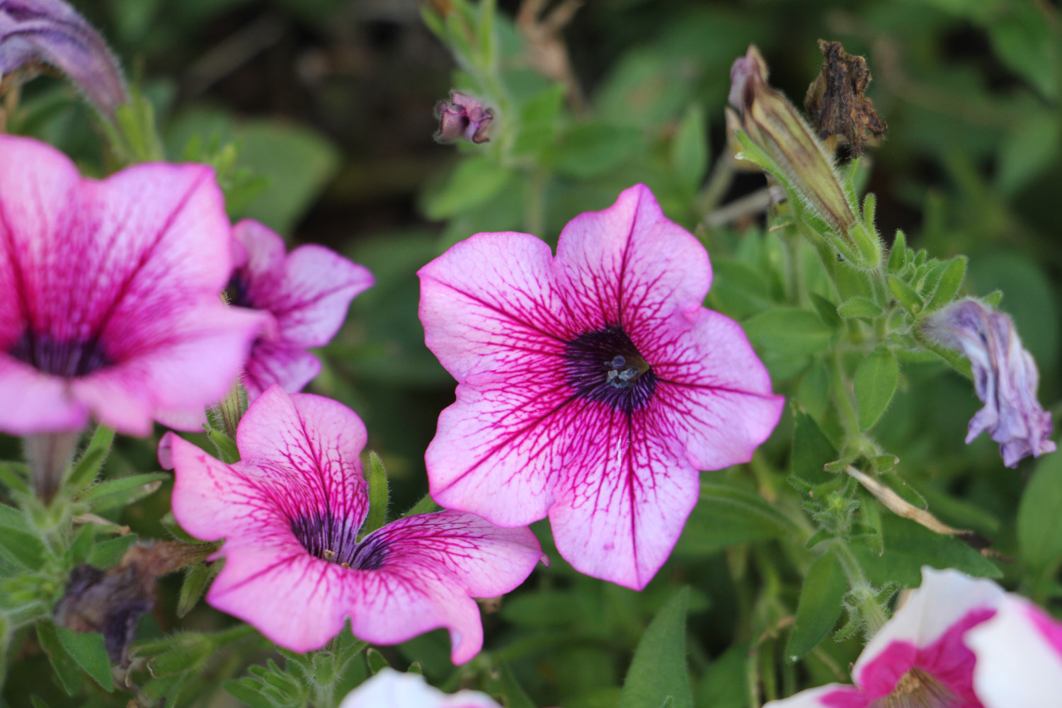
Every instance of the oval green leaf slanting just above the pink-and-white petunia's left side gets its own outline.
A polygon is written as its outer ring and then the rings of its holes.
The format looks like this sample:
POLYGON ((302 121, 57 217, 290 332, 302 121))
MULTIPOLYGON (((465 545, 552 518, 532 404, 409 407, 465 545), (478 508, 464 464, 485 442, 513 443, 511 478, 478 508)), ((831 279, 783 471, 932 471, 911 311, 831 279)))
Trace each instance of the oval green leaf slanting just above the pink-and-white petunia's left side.
POLYGON ((789 661, 810 652, 834 628, 847 590, 849 581, 837 557, 826 553, 816 558, 804 577, 793 631, 786 642, 789 661))

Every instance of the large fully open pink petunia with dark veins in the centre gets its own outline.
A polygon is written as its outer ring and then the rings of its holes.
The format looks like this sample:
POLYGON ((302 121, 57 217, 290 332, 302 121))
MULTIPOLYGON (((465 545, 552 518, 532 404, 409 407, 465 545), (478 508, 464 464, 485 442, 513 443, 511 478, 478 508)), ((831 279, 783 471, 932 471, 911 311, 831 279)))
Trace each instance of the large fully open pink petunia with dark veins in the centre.
POLYGON ((431 495, 502 526, 549 516, 576 569, 643 588, 783 399, 741 328, 701 307, 704 247, 637 185, 565 226, 477 234, 425 265, 428 347, 458 380, 426 454, 431 495))

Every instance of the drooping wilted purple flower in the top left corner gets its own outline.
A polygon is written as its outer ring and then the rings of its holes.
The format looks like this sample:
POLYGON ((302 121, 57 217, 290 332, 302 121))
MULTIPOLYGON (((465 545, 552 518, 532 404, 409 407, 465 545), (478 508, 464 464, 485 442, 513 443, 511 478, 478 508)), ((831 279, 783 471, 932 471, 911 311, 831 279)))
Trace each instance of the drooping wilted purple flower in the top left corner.
POLYGON ((0 75, 33 62, 62 70, 108 117, 130 100, 115 55, 73 7, 63 0, 0 0, 0 75))

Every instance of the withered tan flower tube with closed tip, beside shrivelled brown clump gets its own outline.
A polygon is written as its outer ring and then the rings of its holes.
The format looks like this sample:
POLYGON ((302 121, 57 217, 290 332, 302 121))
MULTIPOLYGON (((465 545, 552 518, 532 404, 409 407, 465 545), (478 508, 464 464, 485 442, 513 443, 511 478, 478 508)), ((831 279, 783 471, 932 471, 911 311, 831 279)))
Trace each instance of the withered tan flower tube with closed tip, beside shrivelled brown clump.
POLYGON ((877 265, 879 240, 860 224, 822 141, 785 96, 768 85, 767 64, 754 46, 731 68, 729 100, 740 111, 749 140, 773 161, 777 176, 841 237, 841 253, 860 265, 877 265), (856 246, 856 253, 845 244, 856 246))

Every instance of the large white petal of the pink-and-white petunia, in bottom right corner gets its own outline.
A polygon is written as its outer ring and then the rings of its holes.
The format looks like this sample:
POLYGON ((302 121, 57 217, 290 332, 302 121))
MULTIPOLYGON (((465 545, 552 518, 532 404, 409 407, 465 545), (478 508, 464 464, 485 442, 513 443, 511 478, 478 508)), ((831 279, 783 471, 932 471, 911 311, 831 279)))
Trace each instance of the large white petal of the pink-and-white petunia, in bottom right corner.
POLYGON ((1062 623, 1018 595, 966 635, 984 708, 1062 705, 1062 623))

